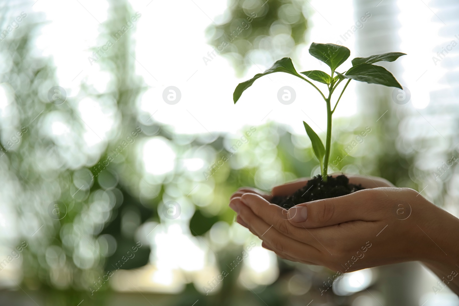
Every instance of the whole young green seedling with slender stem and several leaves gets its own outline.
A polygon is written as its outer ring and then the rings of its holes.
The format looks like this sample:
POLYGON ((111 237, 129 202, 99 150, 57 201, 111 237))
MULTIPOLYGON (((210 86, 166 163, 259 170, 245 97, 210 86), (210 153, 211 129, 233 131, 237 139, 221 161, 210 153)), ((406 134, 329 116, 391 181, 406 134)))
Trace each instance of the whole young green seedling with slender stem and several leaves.
POLYGON ((264 75, 274 72, 290 73, 311 84, 325 100, 327 106, 327 138, 325 140, 325 147, 319 136, 313 131, 308 123, 303 121, 303 124, 309 139, 311 139, 314 155, 319 160, 322 179, 326 181, 331 149, 331 117, 335 112, 336 106, 338 105, 344 90, 346 90, 347 85, 349 82, 351 82, 351 80, 356 80, 360 82, 380 84, 388 87, 396 87, 403 90, 402 85, 397 82, 391 72, 387 71, 387 69, 384 67, 373 64, 378 61, 395 61, 400 56, 406 54, 401 52, 388 52, 368 57, 356 57, 351 61, 352 67, 349 68, 346 72, 342 73, 336 72, 336 69, 340 67, 341 64, 344 63, 351 54, 349 49, 347 49, 345 46, 312 43, 309 47, 309 54, 317 58, 319 61, 323 61, 325 64, 327 64, 331 69, 331 74, 329 75, 326 72, 320 70, 310 70, 298 73, 293 66, 291 58, 284 57, 279 61, 276 61, 274 65, 265 72, 258 73, 250 80, 239 83, 234 91, 233 100, 234 103, 236 103, 244 90, 252 86, 253 82, 255 82, 257 78, 261 78, 264 75), (307 78, 303 77, 302 75, 306 76, 307 78), (328 97, 326 97, 322 91, 320 91, 320 89, 314 85, 314 83, 309 81, 308 78, 313 81, 326 84, 328 88, 328 97), (347 82, 341 90, 341 94, 339 95, 338 100, 336 100, 335 106, 332 109, 331 97, 341 81, 345 79, 347 79, 347 82))

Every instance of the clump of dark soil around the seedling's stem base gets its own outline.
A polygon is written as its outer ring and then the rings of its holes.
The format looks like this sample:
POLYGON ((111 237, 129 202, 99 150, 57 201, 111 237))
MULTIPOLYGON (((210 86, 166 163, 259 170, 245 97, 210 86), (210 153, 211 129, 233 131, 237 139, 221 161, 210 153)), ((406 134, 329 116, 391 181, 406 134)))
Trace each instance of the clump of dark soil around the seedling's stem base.
POLYGON ((310 179, 306 186, 298 189, 292 195, 274 196, 271 203, 289 209, 301 203, 349 195, 362 189, 364 188, 360 184, 349 184, 349 178, 345 175, 339 175, 336 178, 329 176, 326 182, 322 180, 320 175, 317 175, 310 179))

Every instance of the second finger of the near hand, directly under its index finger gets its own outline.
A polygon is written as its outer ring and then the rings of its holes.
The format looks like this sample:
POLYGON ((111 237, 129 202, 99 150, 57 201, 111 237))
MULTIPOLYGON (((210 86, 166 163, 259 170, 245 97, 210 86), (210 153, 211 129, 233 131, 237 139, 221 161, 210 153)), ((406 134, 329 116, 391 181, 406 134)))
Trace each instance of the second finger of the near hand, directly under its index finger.
POLYGON ((280 234, 275 228, 272 228, 268 223, 258 218, 240 199, 233 199, 231 203, 235 206, 235 210, 239 211, 239 215, 249 225, 251 231, 265 241, 271 249, 280 254, 295 258, 296 261, 302 261, 302 259, 298 258, 298 255, 307 258, 307 261, 310 262, 318 262, 321 258, 319 250, 280 234))

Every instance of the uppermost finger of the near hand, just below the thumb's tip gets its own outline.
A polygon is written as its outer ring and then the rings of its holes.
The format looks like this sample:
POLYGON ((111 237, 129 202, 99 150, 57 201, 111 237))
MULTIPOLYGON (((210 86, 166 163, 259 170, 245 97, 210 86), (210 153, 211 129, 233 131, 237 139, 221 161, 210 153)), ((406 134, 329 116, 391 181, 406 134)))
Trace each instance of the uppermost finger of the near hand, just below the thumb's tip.
POLYGON ((300 229, 288 221, 288 211, 285 208, 270 204, 267 200, 256 194, 244 194, 241 197, 241 201, 257 217, 267 224, 272 224, 281 234, 318 248, 317 241, 311 235, 305 233, 306 231, 302 227, 300 229))

